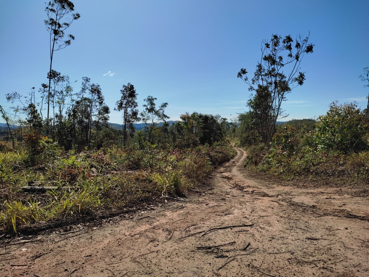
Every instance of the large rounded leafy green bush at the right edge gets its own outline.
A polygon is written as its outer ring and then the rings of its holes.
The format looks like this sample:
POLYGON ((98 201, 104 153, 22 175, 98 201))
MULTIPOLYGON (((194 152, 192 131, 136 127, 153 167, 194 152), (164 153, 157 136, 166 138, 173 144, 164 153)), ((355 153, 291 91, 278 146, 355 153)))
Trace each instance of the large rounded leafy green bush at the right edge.
POLYGON ((368 122, 354 103, 333 102, 313 131, 313 143, 318 150, 349 153, 368 149, 368 122))

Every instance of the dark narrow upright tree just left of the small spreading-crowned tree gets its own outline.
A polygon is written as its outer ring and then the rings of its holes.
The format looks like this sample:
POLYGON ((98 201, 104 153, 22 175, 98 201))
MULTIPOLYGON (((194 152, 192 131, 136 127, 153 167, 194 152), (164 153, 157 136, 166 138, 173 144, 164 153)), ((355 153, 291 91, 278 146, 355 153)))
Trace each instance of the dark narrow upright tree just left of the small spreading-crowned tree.
MULTIPOLYGON (((114 110, 123 111, 122 112, 122 140, 123 140, 123 147, 125 147, 125 143, 127 141, 127 127, 131 133, 134 133, 135 127, 134 123, 140 120, 138 116, 138 109, 137 109, 137 92, 134 86, 131 83, 127 85, 123 85, 123 88, 120 90, 121 98, 115 104, 116 107, 114 110)), ((122 140, 120 143, 120 147, 122 148, 122 140)))

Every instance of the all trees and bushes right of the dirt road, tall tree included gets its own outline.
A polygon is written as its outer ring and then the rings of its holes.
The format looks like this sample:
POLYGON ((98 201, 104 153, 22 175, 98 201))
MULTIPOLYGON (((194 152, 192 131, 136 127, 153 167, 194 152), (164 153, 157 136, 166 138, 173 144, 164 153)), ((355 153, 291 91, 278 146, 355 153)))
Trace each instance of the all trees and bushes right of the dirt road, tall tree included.
MULTIPOLYGON (((277 124, 287 116, 282 102, 305 81, 301 61, 314 49, 308 40, 273 34, 262 41, 262 60, 254 75, 244 68, 238 72, 254 94, 247 102, 249 111, 238 115, 229 137, 248 149, 245 166, 268 177, 299 179, 309 186, 368 184, 369 106, 361 110, 356 103, 332 102, 318 120, 277 124)), ((363 72, 359 78, 369 88, 368 68, 363 72)))

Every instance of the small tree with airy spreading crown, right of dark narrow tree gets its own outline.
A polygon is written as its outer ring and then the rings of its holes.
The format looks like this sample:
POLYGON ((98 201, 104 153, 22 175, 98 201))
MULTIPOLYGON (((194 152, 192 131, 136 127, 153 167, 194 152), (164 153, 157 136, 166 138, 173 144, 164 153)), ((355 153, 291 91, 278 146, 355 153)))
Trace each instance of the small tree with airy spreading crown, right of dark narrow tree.
POLYGON ((145 109, 140 113, 142 121, 146 124, 145 129, 148 132, 149 142, 151 142, 152 130, 154 130, 158 122, 169 119, 169 116, 164 113, 165 108, 168 107, 168 103, 162 103, 156 108, 155 100, 156 98, 147 96, 147 98, 144 99, 146 104, 143 105, 145 109))

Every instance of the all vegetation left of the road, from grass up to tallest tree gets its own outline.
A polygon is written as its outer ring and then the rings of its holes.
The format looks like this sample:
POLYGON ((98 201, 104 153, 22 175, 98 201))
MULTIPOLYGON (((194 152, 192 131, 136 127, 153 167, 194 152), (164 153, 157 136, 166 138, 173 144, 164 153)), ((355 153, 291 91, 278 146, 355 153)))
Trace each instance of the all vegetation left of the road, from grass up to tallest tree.
POLYGON ((6 141, 0 142, 0 233, 37 232, 186 197, 235 155, 225 141, 227 119, 194 112, 169 124, 168 103, 147 96, 140 112, 131 83, 117 91, 114 110, 122 112, 123 124, 112 129, 101 87, 83 77, 75 91, 68 75, 53 68, 54 54, 75 40, 66 31, 80 14, 68 0, 45 5, 47 83, 7 93, 8 110, 0 105, 6 122, 0 132, 6 141), (144 129, 135 130, 140 121, 144 129))

